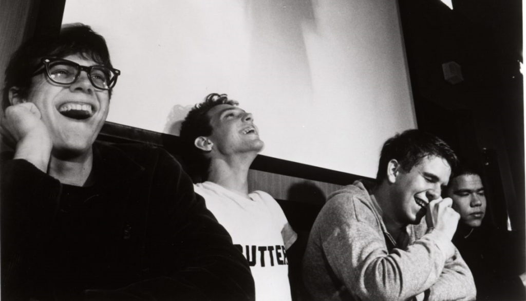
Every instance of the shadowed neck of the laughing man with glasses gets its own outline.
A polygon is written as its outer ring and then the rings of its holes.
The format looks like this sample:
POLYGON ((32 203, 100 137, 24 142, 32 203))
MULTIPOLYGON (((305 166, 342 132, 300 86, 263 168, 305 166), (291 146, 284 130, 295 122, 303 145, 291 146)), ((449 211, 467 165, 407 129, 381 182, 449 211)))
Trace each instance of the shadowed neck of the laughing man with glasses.
POLYGON ((61 159, 52 155, 49 160, 48 174, 63 184, 84 186, 88 183, 93 167, 93 151, 74 158, 61 159))

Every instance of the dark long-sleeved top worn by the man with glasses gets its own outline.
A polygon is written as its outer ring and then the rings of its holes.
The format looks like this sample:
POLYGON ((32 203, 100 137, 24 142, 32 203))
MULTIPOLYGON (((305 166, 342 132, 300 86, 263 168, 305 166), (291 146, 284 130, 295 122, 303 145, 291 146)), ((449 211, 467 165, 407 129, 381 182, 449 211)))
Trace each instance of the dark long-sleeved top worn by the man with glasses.
POLYGON ((2 300, 250 300, 245 258, 166 151, 94 144, 89 188, 1 178, 2 300))

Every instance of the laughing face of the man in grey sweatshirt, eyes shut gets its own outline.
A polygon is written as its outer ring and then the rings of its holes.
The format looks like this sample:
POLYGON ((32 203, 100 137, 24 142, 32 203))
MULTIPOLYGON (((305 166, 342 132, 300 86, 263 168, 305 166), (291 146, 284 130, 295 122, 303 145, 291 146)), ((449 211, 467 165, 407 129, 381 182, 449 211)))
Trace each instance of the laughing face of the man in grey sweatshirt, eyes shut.
POLYGON ((406 172, 400 165, 390 176, 391 219, 400 225, 418 224, 426 215, 430 201, 440 198, 441 189, 448 184, 451 168, 448 162, 427 156, 406 172))

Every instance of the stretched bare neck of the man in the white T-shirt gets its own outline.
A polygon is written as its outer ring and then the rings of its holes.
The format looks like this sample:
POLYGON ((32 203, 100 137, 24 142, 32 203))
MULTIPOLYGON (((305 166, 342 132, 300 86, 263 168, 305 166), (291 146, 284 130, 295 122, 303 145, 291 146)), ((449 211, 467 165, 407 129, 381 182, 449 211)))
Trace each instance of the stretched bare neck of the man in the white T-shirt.
POLYGON ((211 159, 207 180, 248 198, 248 170, 256 155, 247 153, 211 159))

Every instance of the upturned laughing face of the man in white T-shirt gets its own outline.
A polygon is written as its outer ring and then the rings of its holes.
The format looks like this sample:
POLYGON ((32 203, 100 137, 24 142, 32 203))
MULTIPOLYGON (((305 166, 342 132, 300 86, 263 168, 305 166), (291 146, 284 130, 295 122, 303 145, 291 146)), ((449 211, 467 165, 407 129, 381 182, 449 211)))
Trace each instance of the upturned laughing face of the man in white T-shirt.
POLYGON ((264 146, 251 113, 232 106, 218 105, 208 111, 213 128, 208 139, 213 152, 229 155, 240 152, 259 152, 264 146))

